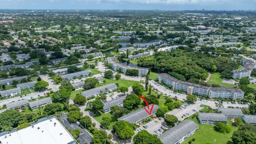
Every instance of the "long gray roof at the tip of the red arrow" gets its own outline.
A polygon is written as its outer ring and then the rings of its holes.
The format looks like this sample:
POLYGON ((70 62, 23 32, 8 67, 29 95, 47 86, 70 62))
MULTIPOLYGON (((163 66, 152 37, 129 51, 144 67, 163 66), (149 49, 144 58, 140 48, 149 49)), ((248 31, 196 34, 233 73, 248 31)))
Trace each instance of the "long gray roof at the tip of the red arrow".
MULTIPOLYGON (((151 106, 152 106, 152 104, 149 105, 149 108, 151 108, 151 106)), ((148 109, 147 106, 145 108, 148 109)), ((158 106, 154 105, 151 113, 155 113, 157 111, 157 109, 158 109, 158 106)), ((136 111, 133 111, 130 114, 127 114, 125 116, 118 118, 118 121, 123 120, 123 121, 129 122, 129 123, 134 123, 134 122, 139 121, 140 119, 147 117, 147 116, 148 116, 147 111, 144 108, 140 108, 136 111)))

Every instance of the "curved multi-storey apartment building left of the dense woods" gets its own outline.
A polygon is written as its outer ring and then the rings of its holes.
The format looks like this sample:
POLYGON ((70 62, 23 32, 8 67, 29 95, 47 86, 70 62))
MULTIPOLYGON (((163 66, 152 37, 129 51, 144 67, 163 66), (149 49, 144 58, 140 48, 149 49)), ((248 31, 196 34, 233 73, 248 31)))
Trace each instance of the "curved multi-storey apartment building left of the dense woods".
POLYGON ((108 57, 107 59, 108 63, 111 65, 113 70, 115 71, 122 71, 122 73, 126 73, 127 69, 137 69, 138 70, 138 76, 145 76, 148 73, 148 68, 141 68, 141 67, 131 67, 124 65, 122 63, 116 62, 116 59, 114 57, 108 57))

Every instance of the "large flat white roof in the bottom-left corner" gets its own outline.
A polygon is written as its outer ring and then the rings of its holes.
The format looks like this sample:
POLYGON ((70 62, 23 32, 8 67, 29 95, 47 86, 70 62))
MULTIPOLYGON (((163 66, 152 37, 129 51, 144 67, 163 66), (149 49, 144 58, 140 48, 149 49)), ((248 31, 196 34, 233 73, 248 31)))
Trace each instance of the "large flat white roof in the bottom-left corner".
POLYGON ((10 134, 1 135, 0 141, 3 144, 67 144, 75 141, 55 117, 50 119, 46 118, 45 121, 34 124, 34 127, 29 126, 10 134), (55 126, 54 123, 56 123, 55 126))

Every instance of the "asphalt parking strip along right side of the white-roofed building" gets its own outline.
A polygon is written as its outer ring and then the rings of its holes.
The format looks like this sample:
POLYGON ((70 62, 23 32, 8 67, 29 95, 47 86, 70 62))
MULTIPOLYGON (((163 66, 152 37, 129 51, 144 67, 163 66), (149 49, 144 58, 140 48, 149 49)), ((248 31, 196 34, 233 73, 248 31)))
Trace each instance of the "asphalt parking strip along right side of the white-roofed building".
POLYGON ((78 126, 76 123, 70 123, 70 122, 68 122, 68 116, 67 116, 67 114, 62 114, 62 115, 60 116, 60 118, 63 120, 62 125, 63 125, 64 127, 69 127, 69 128, 72 129, 72 130, 78 129, 78 130, 80 130, 80 131, 82 132, 82 134, 80 134, 80 135, 78 136, 78 138, 80 139, 80 142, 79 142, 79 143, 85 143, 85 142, 87 142, 87 143, 92 143, 92 141, 91 141, 92 135, 91 135, 89 132, 85 131, 82 127, 78 126))

